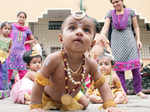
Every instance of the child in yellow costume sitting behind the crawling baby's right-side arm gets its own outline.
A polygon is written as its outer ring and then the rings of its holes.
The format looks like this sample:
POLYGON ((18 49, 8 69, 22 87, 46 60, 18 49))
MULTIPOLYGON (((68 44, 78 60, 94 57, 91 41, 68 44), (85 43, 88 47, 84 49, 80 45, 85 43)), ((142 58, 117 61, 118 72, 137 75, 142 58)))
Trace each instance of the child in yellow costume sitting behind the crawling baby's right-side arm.
MULTIPOLYGON (((127 95, 124 92, 120 80, 115 73, 112 73, 112 57, 110 54, 105 53, 98 57, 99 69, 102 74, 104 74, 106 82, 109 84, 113 98, 116 104, 125 104, 128 102, 127 95)), ((86 93, 93 103, 103 102, 101 95, 97 89, 94 88, 92 84, 86 93)))

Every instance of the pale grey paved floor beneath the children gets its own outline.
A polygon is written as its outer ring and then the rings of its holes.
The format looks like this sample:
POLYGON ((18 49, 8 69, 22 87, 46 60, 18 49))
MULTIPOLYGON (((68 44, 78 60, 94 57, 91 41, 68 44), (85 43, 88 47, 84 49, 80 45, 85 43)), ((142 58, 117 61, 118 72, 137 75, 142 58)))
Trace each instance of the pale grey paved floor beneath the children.
MULTIPOLYGON (((138 96, 128 96, 129 103, 118 105, 118 108, 127 110, 127 112, 150 112, 150 95, 148 99, 141 99, 138 96)), ((98 110, 100 104, 90 104, 84 111, 74 112, 100 112, 98 110)), ((14 104, 10 98, 0 100, 0 112, 29 112, 29 106, 22 104, 14 104)), ((48 111, 59 112, 59 111, 48 111)))

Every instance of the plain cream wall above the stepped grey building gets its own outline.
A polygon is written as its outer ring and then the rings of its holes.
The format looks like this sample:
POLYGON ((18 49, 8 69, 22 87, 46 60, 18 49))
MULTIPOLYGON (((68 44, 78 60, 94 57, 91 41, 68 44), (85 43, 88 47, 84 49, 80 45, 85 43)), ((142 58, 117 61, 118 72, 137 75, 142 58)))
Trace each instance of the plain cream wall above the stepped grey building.
MULTIPOLYGON (((87 13, 97 19, 104 19, 106 12, 112 8, 109 0, 83 0, 87 13)), ((150 0, 124 0, 129 8, 136 9, 142 17, 150 22, 150 0)), ((16 14, 25 11, 27 22, 37 21, 38 17, 51 8, 69 8, 79 10, 80 0, 0 0, 0 21, 16 21, 16 14)))

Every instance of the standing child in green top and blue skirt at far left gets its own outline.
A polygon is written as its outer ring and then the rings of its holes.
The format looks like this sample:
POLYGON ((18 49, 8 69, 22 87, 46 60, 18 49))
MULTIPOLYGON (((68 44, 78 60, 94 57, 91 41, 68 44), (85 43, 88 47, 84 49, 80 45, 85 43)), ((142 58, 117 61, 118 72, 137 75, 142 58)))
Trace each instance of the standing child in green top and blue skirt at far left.
POLYGON ((2 23, 0 32, 0 99, 3 99, 10 95, 7 59, 12 45, 12 40, 9 37, 11 25, 8 22, 2 23))

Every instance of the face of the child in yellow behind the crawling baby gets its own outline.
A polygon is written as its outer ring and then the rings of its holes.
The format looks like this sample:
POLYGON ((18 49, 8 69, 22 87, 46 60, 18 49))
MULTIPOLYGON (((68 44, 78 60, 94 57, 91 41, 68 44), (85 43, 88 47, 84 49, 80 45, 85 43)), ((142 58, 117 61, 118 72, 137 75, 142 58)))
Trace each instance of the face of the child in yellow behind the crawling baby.
POLYGON ((103 57, 102 59, 99 60, 99 66, 100 66, 100 71, 103 74, 110 74, 111 73, 111 60, 108 59, 107 57, 103 57))

